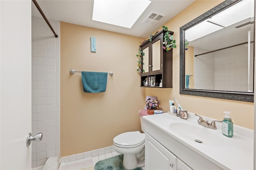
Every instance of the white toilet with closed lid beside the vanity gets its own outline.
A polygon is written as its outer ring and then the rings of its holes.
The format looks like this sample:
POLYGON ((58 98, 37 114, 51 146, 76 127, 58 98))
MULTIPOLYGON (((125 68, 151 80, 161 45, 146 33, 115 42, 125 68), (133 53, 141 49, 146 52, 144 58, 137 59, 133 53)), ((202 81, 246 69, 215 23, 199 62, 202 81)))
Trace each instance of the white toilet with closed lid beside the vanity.
MULTIPOLYGON (((142 116, 149 115, 146 110, 140 110, 140 124, 144 132, 144 120, 142 116)), ((134 169, 145 165, 145 134, 139 131, 125 132, 113 139, 116 152, 124 154, 123 165, 126 169, 134 169)))

